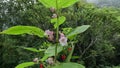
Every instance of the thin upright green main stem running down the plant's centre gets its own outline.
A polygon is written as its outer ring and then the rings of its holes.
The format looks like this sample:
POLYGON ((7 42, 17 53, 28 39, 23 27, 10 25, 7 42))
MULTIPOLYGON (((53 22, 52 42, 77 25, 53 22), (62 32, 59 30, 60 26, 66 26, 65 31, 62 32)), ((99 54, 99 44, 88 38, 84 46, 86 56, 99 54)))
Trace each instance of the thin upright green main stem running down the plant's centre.
MULTIPOLYGON (((56 0, 56 14, 57 14, 57 26, 59 24, 59 10, 58 10, 58 1, 56 0)), ((57 27, 56 29, 56 41, 58 42, 58 38, 59 38, 59 26, 57 27)), ((57 46, 58 44, 56 44, 56 47, 55 47, 55 62, 57 61, 57 46)))

